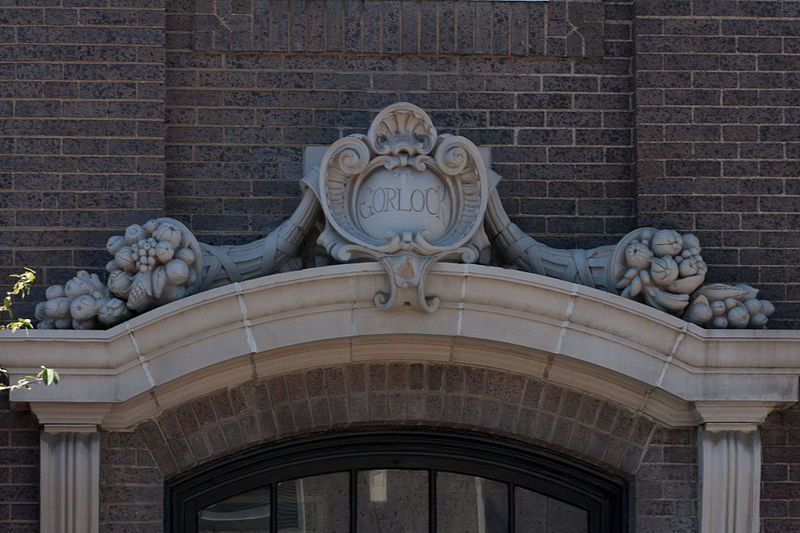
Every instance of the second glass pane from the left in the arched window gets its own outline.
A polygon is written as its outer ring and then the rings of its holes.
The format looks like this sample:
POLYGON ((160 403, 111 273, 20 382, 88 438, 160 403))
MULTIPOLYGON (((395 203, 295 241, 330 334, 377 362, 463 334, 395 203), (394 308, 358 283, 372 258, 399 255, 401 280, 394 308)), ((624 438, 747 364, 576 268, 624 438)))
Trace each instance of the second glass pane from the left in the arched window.
POLYGON ((278 483, 278 533, 350 531, 350 474, 337 472, 278 483))

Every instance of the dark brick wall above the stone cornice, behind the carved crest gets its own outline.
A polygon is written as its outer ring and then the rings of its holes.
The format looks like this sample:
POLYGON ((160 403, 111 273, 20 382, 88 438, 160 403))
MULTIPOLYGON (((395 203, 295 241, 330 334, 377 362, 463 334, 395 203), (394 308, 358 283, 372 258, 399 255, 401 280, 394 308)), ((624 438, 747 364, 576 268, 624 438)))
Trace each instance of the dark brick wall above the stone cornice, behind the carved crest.
POLYGON ((36 268, 41 299, 102 272, 111 228, 162 213, 212 243, 261 236, 296 205, 304 146, 408 100, 493 148, 538 239, 694 231, 710 280, 756 285, 772 327, 797 327, 799 17, 777 0, 14 2, 0 277, 36 268))

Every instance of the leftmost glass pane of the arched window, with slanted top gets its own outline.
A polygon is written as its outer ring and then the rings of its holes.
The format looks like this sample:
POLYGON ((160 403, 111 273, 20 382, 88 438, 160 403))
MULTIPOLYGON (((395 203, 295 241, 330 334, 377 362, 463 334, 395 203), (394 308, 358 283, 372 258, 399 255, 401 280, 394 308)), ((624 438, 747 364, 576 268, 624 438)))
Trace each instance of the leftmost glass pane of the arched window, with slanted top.
POLYGON ((197 513, 199 533, 267 533, 269 487, 251 490, 209 505, 197 513))

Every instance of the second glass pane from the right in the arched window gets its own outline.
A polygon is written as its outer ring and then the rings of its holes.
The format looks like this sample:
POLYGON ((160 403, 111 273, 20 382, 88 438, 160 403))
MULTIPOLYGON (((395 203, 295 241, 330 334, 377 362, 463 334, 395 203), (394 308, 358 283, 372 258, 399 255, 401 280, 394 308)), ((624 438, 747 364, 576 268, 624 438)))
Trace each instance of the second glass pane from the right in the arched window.
POLYGON ((477 476, 436 473, 437 533, 506 533, 508 486, 477 476))

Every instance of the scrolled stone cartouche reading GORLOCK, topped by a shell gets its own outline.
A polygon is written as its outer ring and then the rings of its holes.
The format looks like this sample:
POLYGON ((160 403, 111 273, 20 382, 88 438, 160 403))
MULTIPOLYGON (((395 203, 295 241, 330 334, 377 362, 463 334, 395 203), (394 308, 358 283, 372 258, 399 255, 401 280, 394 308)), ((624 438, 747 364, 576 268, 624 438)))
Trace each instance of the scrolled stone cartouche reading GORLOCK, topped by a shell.
POLYGON ((319 243, 336 260, 378 260, 390 292, 375 302, 433 311, 424 278, 441 259, 478 260, 488 200, 486 165, 460 136, 438 135, 420 108, 398 103, 381 111, 367 135, 335 142, 322 159, 320 201, 326 228, 319 243), (471 242, 471 241, 475 242, 471 242), (416 295, 397 298, 398 291, 416 295))

